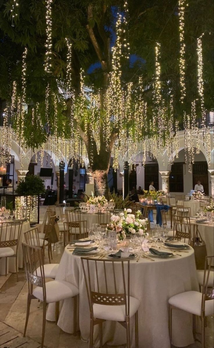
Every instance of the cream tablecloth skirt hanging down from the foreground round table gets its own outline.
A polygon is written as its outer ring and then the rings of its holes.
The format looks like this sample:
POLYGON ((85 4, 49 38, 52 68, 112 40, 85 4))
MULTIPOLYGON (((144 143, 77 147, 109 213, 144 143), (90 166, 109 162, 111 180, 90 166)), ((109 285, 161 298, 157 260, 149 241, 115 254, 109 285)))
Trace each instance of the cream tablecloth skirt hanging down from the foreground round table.
MULTIPOLYGON (((179 252, 177 252, 179 253, 179 252)), ((180 253, 171 258, 140 258, 130 261, 130 296, 140 301, 138 310, 139 348, 169 348, 168 300, 171 296, 190 290, 199 291, 194 251, 180 253), (179 256, 181 255, 181 256, 179 256)), ((94 267, 95 274, 95 267, 94 267)), ((122 277, 118 274, 117 277, 122 277)), ((83 341, 89 340, 90 311, 86 293, 81 257, 72 255, 67 246, 62 255, 56 280, 64 280, 79 289, 79 330, 83 341)), ((122 279, 122 278, 121 278, 122 279)), ((115 308, 116 310, 116 308, 115 308)), ((48 305, 46 319, 55 321, 55 303, 48 305)), ((65 332, 73 332, 73 301, 60 303, 58 326, 65 332)), ((94 347, 99 347, 99 325, 94 327, 94 347)), ((172 343, 178 347, 192 344, 192 317, 181 310, 173 311, 172 343)), ((134 318, 130 319, 131 347, 135 347, 134 318)), ((125 329, 116 322, 103 324, 103 343, 124 345, 125 329)))

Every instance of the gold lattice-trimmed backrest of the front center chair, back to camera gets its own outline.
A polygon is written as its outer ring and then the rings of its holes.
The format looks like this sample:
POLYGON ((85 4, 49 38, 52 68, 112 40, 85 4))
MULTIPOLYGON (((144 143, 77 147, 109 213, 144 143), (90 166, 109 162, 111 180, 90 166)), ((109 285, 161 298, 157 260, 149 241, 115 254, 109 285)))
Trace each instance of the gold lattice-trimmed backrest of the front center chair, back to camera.
POLYGON ((93 304, 97 303, 106 306, 125 305, 125 315, 129 316, 130 261, 84 257, 81 260, 90 314, 93 315, 93 304))

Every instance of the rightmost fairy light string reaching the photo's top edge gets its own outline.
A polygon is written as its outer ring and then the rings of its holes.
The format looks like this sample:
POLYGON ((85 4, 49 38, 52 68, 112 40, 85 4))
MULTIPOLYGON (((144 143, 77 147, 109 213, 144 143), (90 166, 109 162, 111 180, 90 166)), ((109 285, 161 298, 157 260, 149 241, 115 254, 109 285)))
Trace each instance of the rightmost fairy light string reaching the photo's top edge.
POLYGON ((185 0, 179 0, 178 1, 179 41, 180 41, 179 72, 180 72, 180 87, 181 87, 181 102, 182 103, 183 103, 185 95, 186 95, 186 87, 185 87, 184 11, 185 11, 185 0))

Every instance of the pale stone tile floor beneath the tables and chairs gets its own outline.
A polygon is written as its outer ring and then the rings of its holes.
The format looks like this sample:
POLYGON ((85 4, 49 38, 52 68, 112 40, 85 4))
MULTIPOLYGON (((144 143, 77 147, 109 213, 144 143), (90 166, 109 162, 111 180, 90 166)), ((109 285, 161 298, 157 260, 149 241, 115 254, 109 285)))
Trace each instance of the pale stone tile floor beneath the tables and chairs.
MULTIPOLYGON (((46 207, 40 207, 40 221, 43 221, 46 207)), ((57 208, 57 215, 59 211, 57 208)), ((153 224, 151 224, 153 228, 153 224)), ((53 263, 60 262, 63 253, 63 244, 60 241, 55 246, 53 252, 53 263)), ((48 260, 46 260, 48 263, 48 260)), ((19 270, 19 281, 16 282, 15 274, 8 274, 7 277, 0 276, 0 322, 13 327, 20 333, 23 333, 25 316, 26 316, 26 297, 28 287, 26 284, 24 270, 19 270)), ((206 327, 206 348, 213 348, 214 334, 213 334, 213 317, 209 317, 206 327)), ((42 329, 42 304, 37 300, 32 300, 30 317, 28 322, 28 329, 26 335, 36 342, 41 342, 42 329)), ((82 342, 80 333, 75 337, 60 330, 60 328, 53 322, 46 322, 45 331, 45 346, 47 348, 86 348, 88 343, 82 342)), ((197 334, 200 340, 200 334, 197 334)), ((107 347, 107 346, 106 346, 107 347)), ((112 346, 111 346, 112 347, 112 346)), ((117 347, 122 348, 125 346, 117 347)), ((199 348, 201 343, 196 341, 188 348, 199 348)), ((150 348, 150 347, 145 347, 150 348)), ((160 347, 164 348, 164 347, 160 347)))

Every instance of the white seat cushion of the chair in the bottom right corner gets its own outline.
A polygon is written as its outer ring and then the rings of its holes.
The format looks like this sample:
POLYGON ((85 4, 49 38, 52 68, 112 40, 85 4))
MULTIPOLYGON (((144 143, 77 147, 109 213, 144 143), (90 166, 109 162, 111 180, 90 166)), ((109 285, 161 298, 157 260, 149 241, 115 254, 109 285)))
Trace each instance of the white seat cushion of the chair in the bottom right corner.
MULTIPOLYGON (((169 304, 191 314, 201 315, 202 293, 198 291, 186 291, 172 296, 169 304)), ((214 300, 205 302, 205 316, 214 314, 214 300)))

